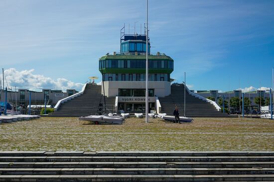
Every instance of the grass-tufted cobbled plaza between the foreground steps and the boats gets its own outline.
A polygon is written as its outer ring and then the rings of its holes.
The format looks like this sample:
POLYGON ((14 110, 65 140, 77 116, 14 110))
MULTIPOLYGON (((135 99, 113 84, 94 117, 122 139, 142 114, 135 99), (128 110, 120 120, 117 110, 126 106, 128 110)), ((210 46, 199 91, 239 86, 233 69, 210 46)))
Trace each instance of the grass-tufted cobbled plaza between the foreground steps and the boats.
POLYGON ((267 119, 196 118, 188 124, 150 121, 93 125, 78 118, 41 118, 0 124, 0 150, 274 151, 274 121, 267 119))

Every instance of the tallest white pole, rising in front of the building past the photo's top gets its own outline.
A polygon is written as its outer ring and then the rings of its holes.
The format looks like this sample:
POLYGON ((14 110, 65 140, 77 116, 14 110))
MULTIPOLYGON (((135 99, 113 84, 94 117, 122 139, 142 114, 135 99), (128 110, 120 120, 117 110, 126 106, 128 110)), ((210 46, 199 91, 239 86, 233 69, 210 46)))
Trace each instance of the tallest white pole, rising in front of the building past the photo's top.
POLYGON ((146 0, 145 122, 148 122, 148 0, 146 0))

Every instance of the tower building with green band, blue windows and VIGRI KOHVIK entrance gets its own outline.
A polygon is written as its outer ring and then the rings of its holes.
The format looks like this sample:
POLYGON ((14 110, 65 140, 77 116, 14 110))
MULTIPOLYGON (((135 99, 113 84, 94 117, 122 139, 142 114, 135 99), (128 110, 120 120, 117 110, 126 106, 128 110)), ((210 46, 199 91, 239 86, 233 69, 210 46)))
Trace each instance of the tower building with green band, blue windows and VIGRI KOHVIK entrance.
MULTIPOLYGON (((121 36, 120 53, 107 54, 99 59, 106 97, 118 97, 118 110, 145 111, 145 35, 121 36)), ((170 73, 173 60, 165 54, 150 53, 148 43, 149 110, 155 110, 157 97, 170 95, 170 73)))

